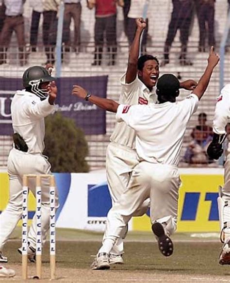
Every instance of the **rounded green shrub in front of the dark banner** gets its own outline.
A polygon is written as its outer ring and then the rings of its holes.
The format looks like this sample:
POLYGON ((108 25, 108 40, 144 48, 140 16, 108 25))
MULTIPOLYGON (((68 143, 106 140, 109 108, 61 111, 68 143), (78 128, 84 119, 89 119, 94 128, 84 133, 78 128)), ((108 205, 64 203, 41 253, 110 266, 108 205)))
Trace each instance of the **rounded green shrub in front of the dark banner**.
POLYGON ((88 172, 85 161, 88 145, 83 131, 76 127, 73 119, 61 113, 45 119, 45 151, 53 172, 88 172))

